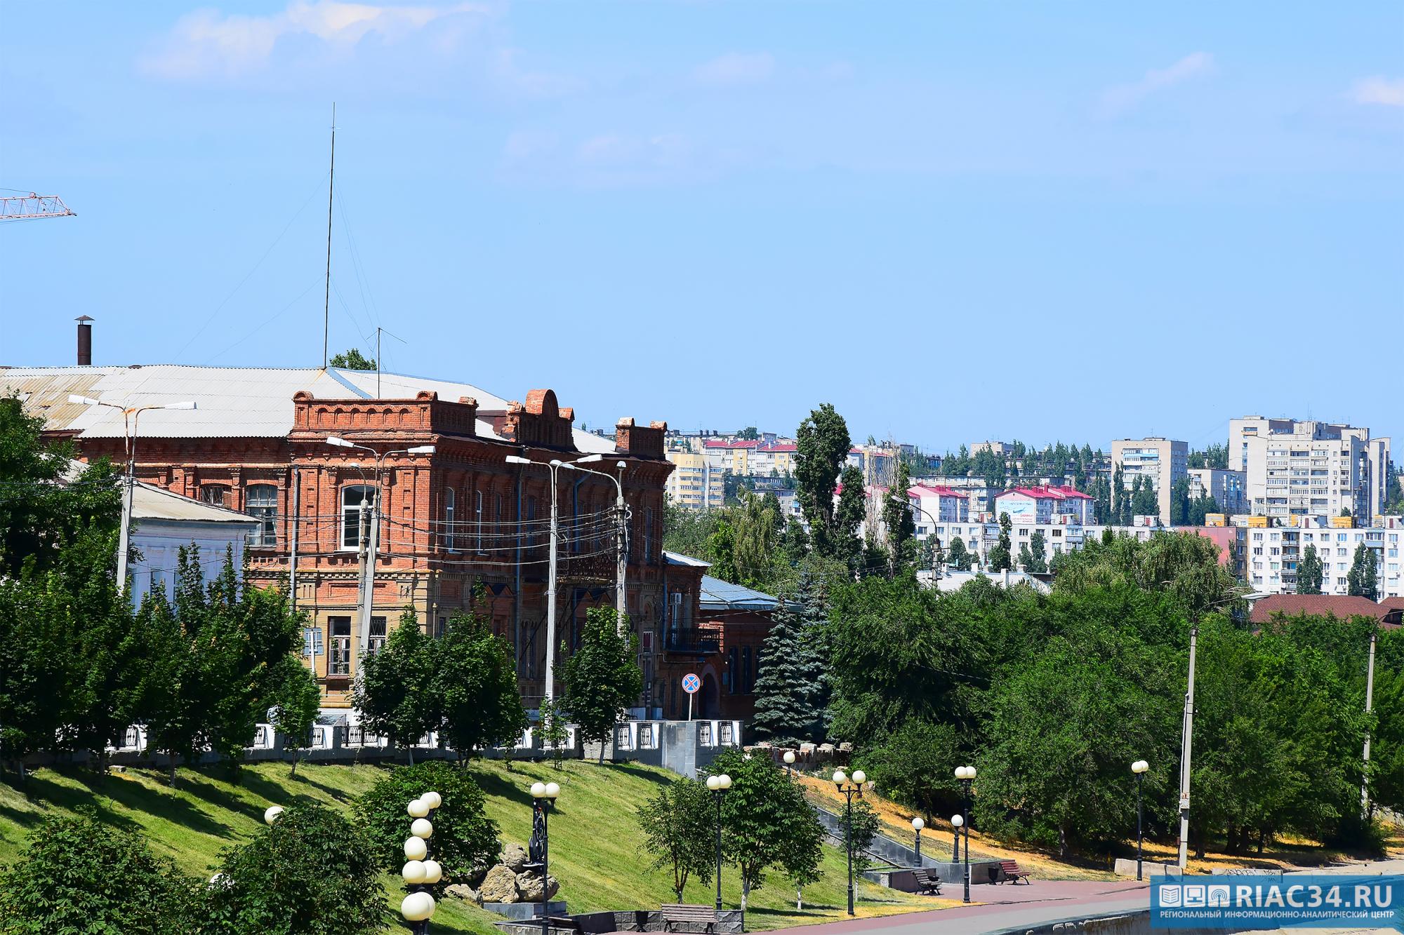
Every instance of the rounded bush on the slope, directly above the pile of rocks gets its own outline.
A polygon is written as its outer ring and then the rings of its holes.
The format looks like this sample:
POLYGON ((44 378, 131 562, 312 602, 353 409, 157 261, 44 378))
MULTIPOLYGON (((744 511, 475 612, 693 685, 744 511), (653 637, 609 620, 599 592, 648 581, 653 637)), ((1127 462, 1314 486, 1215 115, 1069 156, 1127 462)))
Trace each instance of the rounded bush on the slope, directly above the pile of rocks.
POLYGON ((396 767, 357 800, 357 816, 366 831, 375 862, 386 873, 404 866, 404 838, 410 835, 410 816, 404 810, 413 799, 437 792, 444 804, 434 813, 434 837, 430 856, 444 868, 442 890, 463 882, 473 868, 497 862, 501 842, 497 824, 483 810, 483 790, 461 768, 441 760, 396 767))

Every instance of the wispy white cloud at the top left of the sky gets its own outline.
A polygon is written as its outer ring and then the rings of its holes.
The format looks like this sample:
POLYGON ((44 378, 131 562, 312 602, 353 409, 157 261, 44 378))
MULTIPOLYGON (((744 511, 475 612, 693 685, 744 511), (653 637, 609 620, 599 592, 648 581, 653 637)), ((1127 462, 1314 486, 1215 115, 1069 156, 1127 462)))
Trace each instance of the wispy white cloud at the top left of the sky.
POLYGON ((473 3, 390 7, 337 0, 295 0, 268 15, 197 10, 176 22, 142 67, 168 79, 237 76, 267 66, 282 41, 347 53, 371 35, 393 44, 445 17, 486 11, 473 3))

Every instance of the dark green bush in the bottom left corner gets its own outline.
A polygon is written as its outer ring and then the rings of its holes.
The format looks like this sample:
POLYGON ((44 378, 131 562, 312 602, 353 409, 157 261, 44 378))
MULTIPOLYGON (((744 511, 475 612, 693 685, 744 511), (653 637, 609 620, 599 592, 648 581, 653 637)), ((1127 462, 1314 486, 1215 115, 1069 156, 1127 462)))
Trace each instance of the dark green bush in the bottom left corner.
POLYGON ((0 934, 184 932, 194 884, 139 834, 90 814, 46 818, 22 863, 0 872, 0 934))

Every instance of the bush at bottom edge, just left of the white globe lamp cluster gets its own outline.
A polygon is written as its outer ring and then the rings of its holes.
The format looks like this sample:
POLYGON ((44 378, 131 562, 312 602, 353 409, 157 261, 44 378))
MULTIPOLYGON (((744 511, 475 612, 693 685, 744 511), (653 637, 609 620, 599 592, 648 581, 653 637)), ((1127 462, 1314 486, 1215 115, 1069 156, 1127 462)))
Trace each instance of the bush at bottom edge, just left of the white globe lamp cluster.
MULTIPOLYGON (((220 854, 199 897, 198 935, 364 935, 389 911, 365 835, 323 806, 291 806, 249 844, 220 854)), ((91 931, 91 929, 84 929, 91 931)), ((126 929, 122 929, 124 932, 126 929)))

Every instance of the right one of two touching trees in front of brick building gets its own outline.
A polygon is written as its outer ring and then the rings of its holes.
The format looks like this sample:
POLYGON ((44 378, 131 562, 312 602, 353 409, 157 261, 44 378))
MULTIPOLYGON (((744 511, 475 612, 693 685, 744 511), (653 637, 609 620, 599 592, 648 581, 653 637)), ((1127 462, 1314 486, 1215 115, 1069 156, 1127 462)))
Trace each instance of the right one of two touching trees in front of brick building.
MULTIPOLYGON (((418 625, 413 625, 418 630, 418 625)), ((526 712, 517 689, 511 649, 477 614, 455 614, 444 636, 425 640, 432 660, 432 706, 437 727, 458 752, 459 764, 476 750, 519 737, 526 712)))

